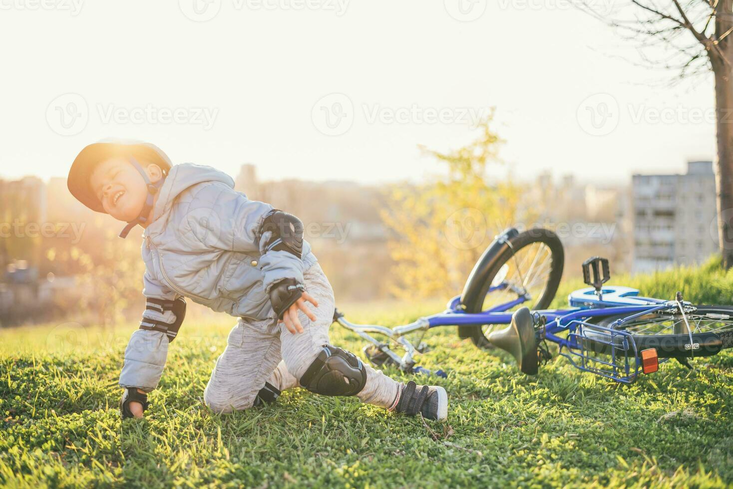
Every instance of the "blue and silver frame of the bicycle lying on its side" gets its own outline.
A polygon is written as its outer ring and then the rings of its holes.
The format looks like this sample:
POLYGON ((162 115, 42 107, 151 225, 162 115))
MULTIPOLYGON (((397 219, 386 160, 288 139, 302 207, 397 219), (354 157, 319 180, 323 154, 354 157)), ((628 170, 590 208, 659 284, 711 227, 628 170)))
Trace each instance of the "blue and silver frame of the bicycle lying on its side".
MULTIPOLYGON (((504 290, 509 286, 509 283, 500 283, 491 287, 489 294, 504 290)), ((569 309, 534 312, 546 320, 543 339, 556 343, 559 346, 560 354, 570 359, 572 365, 614 381, 630 383, 636 380, 640 373, 640 352, 637 350, 633 335, 622 329, 616 329, 616 326, 660 310, 676 310, 678 307, 694 310, 694 307, 691 307, 688 302, 652 299, 638 294, 638 290, 627 287, 606 286, 601 291, 595 288, 583 288, 570 294, 569 309), (594 319, 608 316, 616 316, 619 319, 616 319, 610 325, 611 327, 600 326, 592 322, 594 319)), ((518 296, 515 300, 481 313, 466 313, 460 302, 460 296, 456 296, 448 302, 446 310, 442 313, 419 318, 413 323, 391 329, 385 326, 353 324, 338 312, 334 319, 369 341, 373 348, 381 351, 402 370, 430 373, 422 367, 415 366, 414 357, 421 351, 419 346, 413 346, 405 335, 419 330, 425 332, 439 326, 480 327, 510 324, 513 313, 508 311, 528 300, 529 297, 526 295, 518 296), (386 335, 404 348, 405 354, 399 357, 394 351, 391 351, 388 343, 377 341, 370 333, 386 335)), ((365 354, 367 348, 369 346, 364 348, 365 354)), ((441 375, 440 371, 438 375, 441 375)))

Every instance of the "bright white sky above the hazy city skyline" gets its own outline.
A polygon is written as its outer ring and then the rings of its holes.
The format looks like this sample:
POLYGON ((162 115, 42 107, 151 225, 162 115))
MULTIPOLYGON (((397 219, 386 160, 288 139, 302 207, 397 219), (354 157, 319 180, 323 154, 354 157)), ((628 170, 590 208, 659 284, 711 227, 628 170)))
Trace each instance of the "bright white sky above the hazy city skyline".
POLYGON ((417 146, 460 146, 468 109, 490 107, 521 177, 626 182, 715 154, 712 79, 660 86, 673 74, 623 59, 636 59, 633 45, 563 0, 0 10, 5 177, 65 176, 81 147, 117 137, 232 175, 251 162, 264 179, 419 179, 438 167, 417 146))

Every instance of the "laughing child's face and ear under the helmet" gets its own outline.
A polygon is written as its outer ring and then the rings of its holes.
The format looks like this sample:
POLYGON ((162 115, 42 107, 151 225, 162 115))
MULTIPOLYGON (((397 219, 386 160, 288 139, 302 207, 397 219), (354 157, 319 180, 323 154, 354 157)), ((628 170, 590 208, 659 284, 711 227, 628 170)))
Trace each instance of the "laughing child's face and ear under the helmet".
MULTIPOLYGON (((161 179, 161 168, 155 164, 140 162, 150 183, 161 179)), ((147 198, 147 185, 140 172, 125 157, 105 160, 89 177, 92 190, 104 210, 117 220, 126 223, 142 212, 147 198)))

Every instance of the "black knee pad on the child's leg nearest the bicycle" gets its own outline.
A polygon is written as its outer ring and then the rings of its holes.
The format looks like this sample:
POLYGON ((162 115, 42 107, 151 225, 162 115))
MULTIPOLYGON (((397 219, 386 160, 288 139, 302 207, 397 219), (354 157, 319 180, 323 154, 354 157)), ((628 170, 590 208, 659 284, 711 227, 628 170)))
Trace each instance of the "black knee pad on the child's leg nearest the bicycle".
POLYGON ((326 345, 301 378, 301 386, 320 395, 357 395, 367 385, 367 368, 355 354, 326 345))

